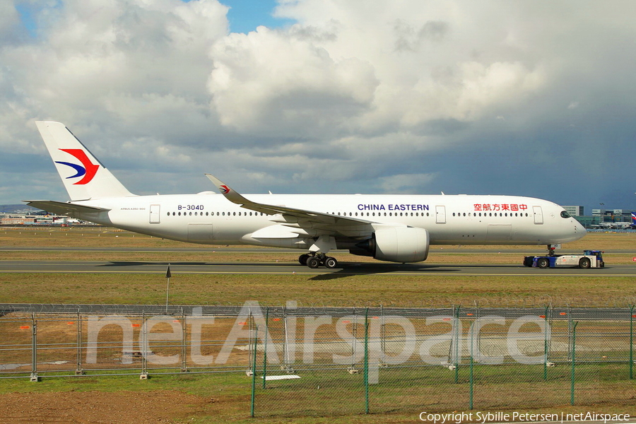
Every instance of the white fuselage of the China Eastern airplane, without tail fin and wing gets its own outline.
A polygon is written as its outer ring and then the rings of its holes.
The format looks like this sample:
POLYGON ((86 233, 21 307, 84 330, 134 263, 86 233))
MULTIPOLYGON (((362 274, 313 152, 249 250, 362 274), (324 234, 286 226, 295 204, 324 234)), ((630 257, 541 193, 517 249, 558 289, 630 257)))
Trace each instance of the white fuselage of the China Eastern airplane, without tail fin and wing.
MULTIPOLYGON (((367 220, 424 228, 431 245, 553 245, 578 240, 586 231, 564 209, 521 196, 425 196, 367 194, 251 194, 263 204, 302 208, 367 220)), ((280 215, 242 208, 221 194, 129 196, 76 204, 109 208, 77 218, 184 242, 247 244, 307 249, 310 234, 285 231, 280 215)), ((355 237, 336 239, 347 249, 355 237)))

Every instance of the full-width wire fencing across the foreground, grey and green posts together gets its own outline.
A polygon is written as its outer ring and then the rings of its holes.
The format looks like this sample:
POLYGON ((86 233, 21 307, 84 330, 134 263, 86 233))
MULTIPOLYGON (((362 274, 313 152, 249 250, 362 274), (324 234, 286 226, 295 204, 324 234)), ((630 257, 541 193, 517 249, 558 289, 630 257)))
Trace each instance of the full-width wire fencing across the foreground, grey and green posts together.
POLYGON ((259 417, 636 405, 634 307, 74 306, 0 305, 0 379, 241 372, 259 417))

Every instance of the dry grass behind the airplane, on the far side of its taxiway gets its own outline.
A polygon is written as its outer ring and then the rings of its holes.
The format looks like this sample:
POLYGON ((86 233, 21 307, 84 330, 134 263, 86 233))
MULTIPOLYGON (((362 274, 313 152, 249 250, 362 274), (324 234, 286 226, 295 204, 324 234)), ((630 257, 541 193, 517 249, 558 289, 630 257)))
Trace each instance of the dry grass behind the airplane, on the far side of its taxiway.
MULTIPOLYGON (((249 252, 219 252, 216 249, 242 248, 244 246, 195 245, 192 243, 164 240, 158 237, 134 234, 122 230, 101 227, 89 228, 4 228, 0 230, 0 245, 15 247, 16 251, 0 252, 1 259, 13 260, 94 260, 94 261, 261 261, 290 262, 298 260, 298 254, 264 251, 249 247, 249 252), (139 252, 52 252, 20 251, 20 247, 90 247, 108 249, 117 247, 136 248, 139 252), (179 249, 200 249, 200 252, 179 252, 179 249), (169 249, 169 252, 144 252, 143 249, 169 249)), ((567 251, 583 249, 608 250, 608 264, 630 264, 636 257, 636 233, 594 232, 584 239, 563 245, 567 251), (631 252, 611 252, 627 250, 631 252)), ((524 254, 543 254, 543 246, 431 246, 428 264, 519 264, 524 254), (484 253, 480 254, 479 251, 484 253), (470 252, 469 252, 470 251, 470 252), (491 252, 497 252, 493 254, 491 252), (514 251, 515 253, 511 253, 514 251), (499 253, 500 252, 500 253, 499 253)), ((370 257, 359 257, 338 253, 338 261, 377 262, 370 257)))

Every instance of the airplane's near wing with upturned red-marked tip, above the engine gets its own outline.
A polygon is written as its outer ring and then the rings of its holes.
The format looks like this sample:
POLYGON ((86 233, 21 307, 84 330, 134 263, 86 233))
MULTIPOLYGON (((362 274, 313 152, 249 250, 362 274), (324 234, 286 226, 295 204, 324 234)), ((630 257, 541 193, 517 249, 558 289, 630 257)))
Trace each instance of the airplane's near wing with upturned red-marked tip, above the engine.
POLYGON ((290 208, 288 206, 278 206, 261 204, 246 199, 227 184, 213 175, 206 174, 206 177, 216 185, 225 199, 243 208, 265 213, 266 215, 281 215, 281 218, 273 219, 273 222, 281 223, 285 227, 298 235, 316 237, 320 235, 343 235, 346 237, 368 238, 373 231, 374 221, 353 218, 349 216, 336 216, 330 213, 307 211, 305 209, 290 208), (297 229, 297 230, 294 230, 297 229))

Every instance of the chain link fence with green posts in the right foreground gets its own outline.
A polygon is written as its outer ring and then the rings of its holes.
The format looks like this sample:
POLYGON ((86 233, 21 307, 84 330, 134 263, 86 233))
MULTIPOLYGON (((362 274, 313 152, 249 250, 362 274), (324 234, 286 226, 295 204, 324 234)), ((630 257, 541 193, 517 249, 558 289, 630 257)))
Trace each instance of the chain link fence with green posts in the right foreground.
POLYGON ((254 318, 252 416, 636 405, 633 308, 395 312, 254 318))

